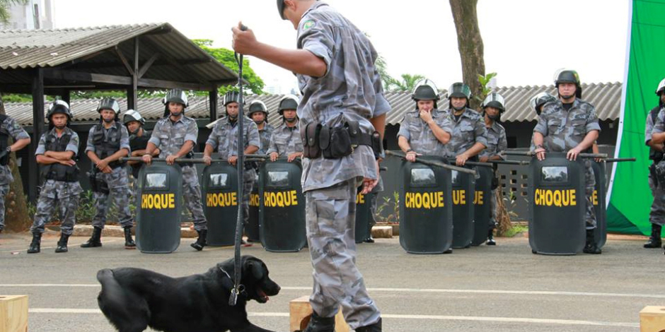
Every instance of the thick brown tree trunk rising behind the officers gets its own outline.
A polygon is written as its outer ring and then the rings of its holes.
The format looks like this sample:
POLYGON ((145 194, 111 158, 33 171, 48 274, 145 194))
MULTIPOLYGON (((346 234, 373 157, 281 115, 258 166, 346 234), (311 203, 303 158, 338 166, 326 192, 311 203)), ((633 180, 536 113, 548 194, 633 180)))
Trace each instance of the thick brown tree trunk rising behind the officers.
MULTIPOLYGON (((482 37, 478 28, 478 0, 449 0, 455 28, 457 30, 457 47, 462 61, 462 77, 469 85, 473 95, 482 95, 479 76, 485 76, 485 59, 483 57, 482 37)), ((470 100, 471 108, 478 109, 480 102, 470 100)))

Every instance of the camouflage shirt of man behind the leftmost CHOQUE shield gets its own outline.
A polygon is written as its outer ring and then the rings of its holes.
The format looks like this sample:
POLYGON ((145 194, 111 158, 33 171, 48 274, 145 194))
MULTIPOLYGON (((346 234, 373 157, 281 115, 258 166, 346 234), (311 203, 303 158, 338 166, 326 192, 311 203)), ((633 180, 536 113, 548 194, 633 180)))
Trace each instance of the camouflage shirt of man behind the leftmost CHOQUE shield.
POLYGON ((199 129, 194 119, 182 115, 178 121, 173 122, 170 117, 166 117, 157 121, 148 143, 153 143, 159 148, 160 158, 166 158, 178 153, 187 141, 192 141, 196 145, 198 135, 199 129))

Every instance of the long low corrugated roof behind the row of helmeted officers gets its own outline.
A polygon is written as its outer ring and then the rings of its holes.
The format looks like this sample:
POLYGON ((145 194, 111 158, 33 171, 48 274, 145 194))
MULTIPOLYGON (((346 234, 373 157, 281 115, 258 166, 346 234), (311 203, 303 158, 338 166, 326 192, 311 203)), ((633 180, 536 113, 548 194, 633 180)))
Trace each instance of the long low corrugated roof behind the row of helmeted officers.
MULTIPOLYGON (((507 111, 502 115, 502 121, 535 121, 536 112, 533 112, 529 100, 533 95, 540 92, 555 93, 554 86, 535 86, 535 87, 509 87, 497 88, 496 91, 504 96, 506 99, 507 111)), ((621 109, 621 83, 606 83, 606 84, 583 84, 582 97, 587 102, 596 106, 598 118, 601 120, 614 120, 618 119, 621 109)), ((445 96, 445 92, 442 94, 445 96)), ((284 95, 250 95, 245 97, 245 105, 249 105, 253 100, 261 100, 265 103, 268 109, 268 121, 272 124, 278 124, 279 114, 277 113, 277 106, 279 100, 282 100, 284 95)), ((399 124, 404 114, 409 112, 414 107, 414 102, 411 99, 411 93, 386 93, 386 99, 390 102, 393 109, 388 114, 388 124, 399 124)), ((224 114, 224 106, 222 100, 223 96, 219 96, 217 106, 217 114, 224 114)), ((120 103, 120 109, 127 109, 127 99, 119 98, 117 101, 120 103)), ((72 100, 71 110, 74 113, 74 121, 94 121, 99 118, 96 112, 98 99, 82 99, 72 100)), ((185 114, 187 117, 194 117, 197 119, 209 117, 209 102, 207 96, 190 96, 190 107, 187 108, 185 114)), ((444 100, 440 103, 446 103, 444 100)), ((440 108, 445 108, 444 104, 440 108)), ((45 107, 45 109, 48 108, 45 107)), ((13 117, 23 126, 32 125, 33 121, 33 104, 32 102, 8 102, 5 105, 7 114, 13 117)), ((139 107, 137 109, 141 112, 146 119, 159 119, 164 112, 164 105, 162 98, 139 98, 139 107)))

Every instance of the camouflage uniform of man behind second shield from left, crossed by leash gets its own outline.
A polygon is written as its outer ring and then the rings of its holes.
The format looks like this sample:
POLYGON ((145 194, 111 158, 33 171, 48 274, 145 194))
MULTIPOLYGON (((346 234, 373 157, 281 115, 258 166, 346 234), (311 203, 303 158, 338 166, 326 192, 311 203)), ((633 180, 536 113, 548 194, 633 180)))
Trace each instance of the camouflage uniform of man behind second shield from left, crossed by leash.
MULTIPOLYGON (((238 155, 238 121, 231 123, 229 117, 220 119, 212 129, 206 144, 217 149, 219 158, 227 160, 232 155, 238 155)), ((267 124, 266 124, 267 126, 267 124)), ((245 149, 248 146, 258 146, 261 149, 261 138, 259 130, 250 118, 245 117, 243 121, 243 143, 245 149)), ((243 221, 245 225, 249 223, 249 198, 252 194, 252 187, 256 178, 256 170, 251 163, 245 164, 243 177, 243 221)))

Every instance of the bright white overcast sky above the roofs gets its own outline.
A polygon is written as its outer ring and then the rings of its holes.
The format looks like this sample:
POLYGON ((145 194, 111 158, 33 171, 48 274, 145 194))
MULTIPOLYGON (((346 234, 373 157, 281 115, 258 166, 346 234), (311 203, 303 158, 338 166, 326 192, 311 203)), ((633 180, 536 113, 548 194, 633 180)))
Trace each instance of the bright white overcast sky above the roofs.
MULTIPOLYGON (((439 89, 462 80, 457 35, 446 0, 328 0, 366 32, 388 73, 432 79, 439 89)), ((583 83, 623 82, 630 0, 478 0, 485 71, 498 86, 549 85, 558 69, 583 83)), ((261 42, 295 48, 296 30, 274 0, 54 0, 56 28, 166 22, 191 39, 231 48, 242 20, 261 42)), ((248 57, 266 86, 296 88, 293 74, 248 57)), ((278 92, 279 93, 279 92, 278 92)))

